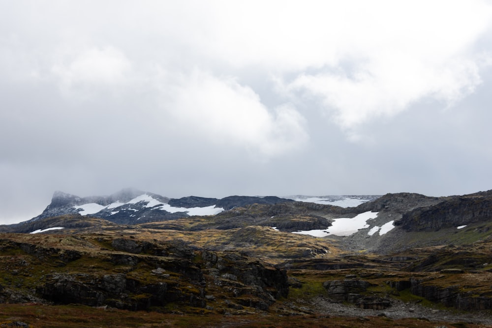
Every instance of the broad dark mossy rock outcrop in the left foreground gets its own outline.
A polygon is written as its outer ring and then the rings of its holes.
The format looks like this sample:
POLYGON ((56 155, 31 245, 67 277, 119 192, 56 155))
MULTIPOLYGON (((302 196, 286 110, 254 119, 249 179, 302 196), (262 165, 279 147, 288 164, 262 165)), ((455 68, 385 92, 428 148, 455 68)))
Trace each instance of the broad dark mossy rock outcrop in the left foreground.
MULTIPOLYGON (((149 310, 170 302, 205 308, 207 302, 226 297, 238 309, 250 306, 267 310, 276 298, 288 293, 284 269, 244 255, 198 252, 179 243, 131 238, 96 240, 109 242, 114 250, 96 251, 89 258, 71 249, 1 240, 1 250, 18 250, 29 257, 29 262, 23 260, 16 265, 26 268, 24 276, 33 285, 23 286, 22 279, 15 286, 0 285, 0 301, 149 310), (58 269, 64 266, 71 268, 58 269)), ((6 266, 14 277, 21 272, 12 270, 12 264, 6 266)))

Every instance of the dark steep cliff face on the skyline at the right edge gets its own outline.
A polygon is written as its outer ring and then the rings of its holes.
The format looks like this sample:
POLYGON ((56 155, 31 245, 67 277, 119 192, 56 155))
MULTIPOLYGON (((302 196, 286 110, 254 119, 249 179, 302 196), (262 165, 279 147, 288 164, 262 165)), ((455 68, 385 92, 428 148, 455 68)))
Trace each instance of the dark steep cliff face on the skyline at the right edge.
POLYGON ((434 231, 492 219, 492 195, 452 197, 404 213, 395 222, 407 231, 434 231))

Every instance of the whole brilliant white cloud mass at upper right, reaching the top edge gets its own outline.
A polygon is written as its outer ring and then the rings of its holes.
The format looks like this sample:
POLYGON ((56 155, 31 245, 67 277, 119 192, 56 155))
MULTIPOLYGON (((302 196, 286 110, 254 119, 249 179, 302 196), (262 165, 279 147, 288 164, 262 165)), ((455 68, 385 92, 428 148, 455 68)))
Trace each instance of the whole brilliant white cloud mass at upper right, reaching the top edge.
POLYGON ((474 49, 491 28, 484 1, 212 2, 205 10, 195 23, 201 40, 187 39, 199 53, 268 70, 289 97, 322 103, 351 137, 426 98, 455 104, 491 58, 474 49))

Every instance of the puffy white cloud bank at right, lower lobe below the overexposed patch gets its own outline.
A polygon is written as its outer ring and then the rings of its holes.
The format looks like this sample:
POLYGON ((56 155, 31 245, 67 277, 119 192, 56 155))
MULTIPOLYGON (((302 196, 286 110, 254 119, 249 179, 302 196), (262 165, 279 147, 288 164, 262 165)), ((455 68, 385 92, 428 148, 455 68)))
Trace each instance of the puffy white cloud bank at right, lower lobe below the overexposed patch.
POLYGON ((478 65, 467 59, 426 65, 400 54, 384 63, 381 60, 385 56, 353 76, 343 72, 303 74, 288 89, 305 90, 319 97, 325 111, 333 113, 344 130, 353 132, 368 119, 396 115, 426 97, 452 105, 481 82, 478 65))

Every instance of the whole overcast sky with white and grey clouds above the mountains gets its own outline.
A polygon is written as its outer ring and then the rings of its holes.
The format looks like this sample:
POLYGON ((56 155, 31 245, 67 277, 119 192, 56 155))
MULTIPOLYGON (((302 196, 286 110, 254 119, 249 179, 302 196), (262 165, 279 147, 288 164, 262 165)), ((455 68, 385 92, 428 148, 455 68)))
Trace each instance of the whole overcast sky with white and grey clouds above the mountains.
POLYGON ((489 190, 491 91, 491 1, 0 0, 0 224, 56 190, 489 190))

